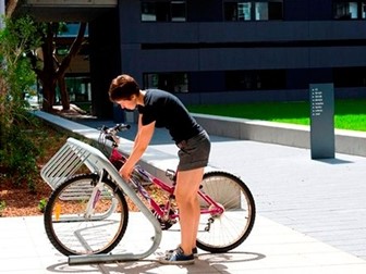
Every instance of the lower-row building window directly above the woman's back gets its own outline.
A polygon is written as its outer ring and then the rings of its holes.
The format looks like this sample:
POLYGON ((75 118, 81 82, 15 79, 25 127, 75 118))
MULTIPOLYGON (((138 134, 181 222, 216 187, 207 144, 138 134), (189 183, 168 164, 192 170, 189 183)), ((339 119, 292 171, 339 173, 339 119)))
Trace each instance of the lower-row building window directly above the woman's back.
POLYGON ((144 88, 158 88, 169 92, 188 92, 186 73, 145 73, 144 88))

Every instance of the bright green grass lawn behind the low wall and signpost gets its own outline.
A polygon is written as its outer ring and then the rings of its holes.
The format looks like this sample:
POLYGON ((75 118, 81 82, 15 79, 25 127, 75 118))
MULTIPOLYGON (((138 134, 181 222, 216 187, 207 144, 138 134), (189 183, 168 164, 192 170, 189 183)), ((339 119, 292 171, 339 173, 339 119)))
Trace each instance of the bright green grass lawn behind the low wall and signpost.
MULTIPOLYGON (((310 107, 303 102, 259 102, 187 105, 190 112, 309 125, 310 107)), ((366 132, 366 99, 335 100, 334 127, 366 132)))

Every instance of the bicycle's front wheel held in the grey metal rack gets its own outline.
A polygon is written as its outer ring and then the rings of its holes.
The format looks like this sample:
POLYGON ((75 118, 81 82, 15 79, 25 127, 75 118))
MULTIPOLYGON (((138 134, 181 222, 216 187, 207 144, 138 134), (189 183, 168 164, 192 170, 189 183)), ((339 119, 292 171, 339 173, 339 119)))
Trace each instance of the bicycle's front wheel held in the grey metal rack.
POLYGON ((47 237, 64 256, 108 253, 126 231, 129 208, 125 197, 108 178, 102 179, 103 189, 91 217, 84 217, 93 185, 97 182, 96 174, 75 175, 57 187, 46 204, 47 237))

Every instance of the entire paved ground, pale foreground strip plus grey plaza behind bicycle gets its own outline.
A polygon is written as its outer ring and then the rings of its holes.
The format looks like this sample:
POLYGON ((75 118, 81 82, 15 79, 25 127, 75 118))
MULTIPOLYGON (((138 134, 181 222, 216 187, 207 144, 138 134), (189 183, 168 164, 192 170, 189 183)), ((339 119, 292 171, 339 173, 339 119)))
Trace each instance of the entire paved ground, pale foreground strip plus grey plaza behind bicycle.
MULTIPOLYGON (((101 124, 89 121, 88 126, 101 124)), ((133 130, 124 137, 132 136, 133 130)), ((236 249, 224 254, 199 250, 194 265, 161 265, 157 257, 179 244, 174 226, 144 260, 70 266, 49 244, 42 216, 5 217, 0 219, 0 273, 366 273, 365 158, 337 154, 315 161, 306 149, 211 140, 210 165, 241 176, 256 200, 254 229, 236 249)), ((151 148, 175 158, 176 148, 162 130, 151 148)), ((164 165, 174 167, 174 160, 164 165)), ((132 213, 113 253, 148 248, 151 232, 139 214, 132 213)))

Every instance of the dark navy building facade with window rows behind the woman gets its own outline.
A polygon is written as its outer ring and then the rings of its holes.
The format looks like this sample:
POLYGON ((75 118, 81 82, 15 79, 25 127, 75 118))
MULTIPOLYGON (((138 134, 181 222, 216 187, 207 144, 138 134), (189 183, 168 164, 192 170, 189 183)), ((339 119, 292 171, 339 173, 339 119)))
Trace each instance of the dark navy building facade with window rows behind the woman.
POLYGON ((89 29, 95 109, 120 73, 193 104, 366 97, 366 0, 120 0, 89 29))

